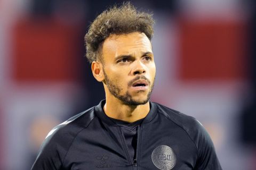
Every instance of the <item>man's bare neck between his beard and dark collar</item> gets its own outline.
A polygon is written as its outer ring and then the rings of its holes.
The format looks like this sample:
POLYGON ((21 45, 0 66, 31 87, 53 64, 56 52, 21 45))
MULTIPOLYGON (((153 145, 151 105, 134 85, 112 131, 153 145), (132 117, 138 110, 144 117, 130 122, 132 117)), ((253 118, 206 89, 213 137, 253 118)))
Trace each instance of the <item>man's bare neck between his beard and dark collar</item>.
POLYGON ((144 105, 126 105, 117 98, 107 99, 104 111, 108 117, 122 120, 125 122, 135 122, 144 118, 149 113, 149 102, 144 105))

